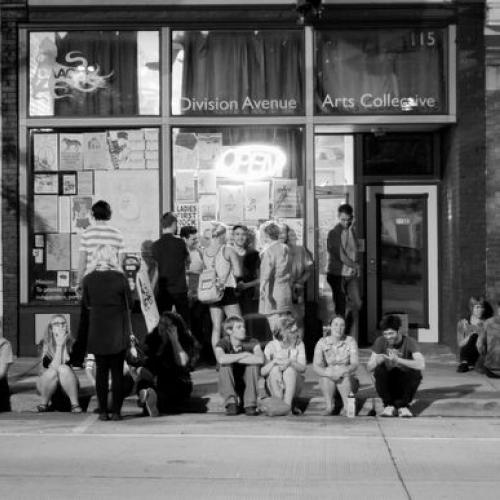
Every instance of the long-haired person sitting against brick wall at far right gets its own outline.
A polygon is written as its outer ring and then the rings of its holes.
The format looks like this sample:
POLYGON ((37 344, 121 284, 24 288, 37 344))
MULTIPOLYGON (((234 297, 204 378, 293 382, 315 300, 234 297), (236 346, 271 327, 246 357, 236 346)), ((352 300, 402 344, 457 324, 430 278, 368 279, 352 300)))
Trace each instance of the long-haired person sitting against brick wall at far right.
POLYGON ((477 343, 484 334, 484 299, 472 296, 469 299, 467 317, 462 318, 457 324, 457 345, 459 363, 457 372, 469 371, 479 359, 477 343))

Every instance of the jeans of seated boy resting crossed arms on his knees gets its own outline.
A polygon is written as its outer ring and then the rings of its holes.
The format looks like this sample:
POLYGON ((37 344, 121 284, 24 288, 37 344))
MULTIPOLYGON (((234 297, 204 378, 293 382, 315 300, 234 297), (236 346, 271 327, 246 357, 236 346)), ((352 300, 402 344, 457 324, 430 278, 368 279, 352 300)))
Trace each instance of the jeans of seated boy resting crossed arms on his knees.
POLYGON ((224 398, 224 406, 229 403, 238 404, 238 398, 243 395, 243 406, 257 406, 257 384, 260 366, 222 365, 219 367, 219 393, 224 398))

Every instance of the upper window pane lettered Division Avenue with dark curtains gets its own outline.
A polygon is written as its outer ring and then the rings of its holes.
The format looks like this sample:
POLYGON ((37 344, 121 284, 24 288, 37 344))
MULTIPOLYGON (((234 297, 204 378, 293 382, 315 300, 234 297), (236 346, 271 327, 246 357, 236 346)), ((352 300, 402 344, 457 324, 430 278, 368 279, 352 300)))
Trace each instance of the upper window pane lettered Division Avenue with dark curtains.
POLYGON ((175 31, 172 114, 303 113, 302 31, 175 31))

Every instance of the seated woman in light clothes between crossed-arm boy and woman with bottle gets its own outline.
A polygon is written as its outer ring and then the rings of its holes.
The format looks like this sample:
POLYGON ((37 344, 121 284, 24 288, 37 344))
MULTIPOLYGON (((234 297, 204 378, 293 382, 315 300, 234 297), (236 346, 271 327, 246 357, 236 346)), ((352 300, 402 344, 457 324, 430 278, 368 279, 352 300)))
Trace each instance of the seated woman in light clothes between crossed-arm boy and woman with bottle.
POLYGON ((261 374, 266 377, 269 393, 285 401, 294 415, 301 415, 294 400, 304 384, 306 350, 293 320, 279 322, 279 331, 274 340, 267 343, 264 358, 261 374))

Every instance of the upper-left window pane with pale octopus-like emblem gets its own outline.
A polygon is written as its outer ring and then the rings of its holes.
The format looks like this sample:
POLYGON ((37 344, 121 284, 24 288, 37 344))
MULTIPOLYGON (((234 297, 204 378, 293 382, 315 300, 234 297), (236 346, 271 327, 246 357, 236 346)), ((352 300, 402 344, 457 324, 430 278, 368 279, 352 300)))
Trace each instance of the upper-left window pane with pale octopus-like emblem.
POLYGON ((158 115, 157 31, 30 33, 30 116, 158 115))

